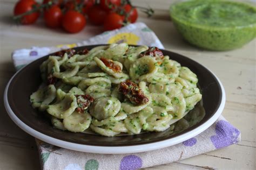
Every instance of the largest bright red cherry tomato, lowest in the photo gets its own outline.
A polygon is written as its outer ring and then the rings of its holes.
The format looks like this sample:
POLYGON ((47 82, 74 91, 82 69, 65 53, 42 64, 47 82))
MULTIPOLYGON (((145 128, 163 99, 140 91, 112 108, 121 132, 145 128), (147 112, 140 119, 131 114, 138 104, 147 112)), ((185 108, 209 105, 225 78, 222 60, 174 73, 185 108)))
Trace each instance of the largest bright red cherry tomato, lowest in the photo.
POLYGON ((62 17, 62 26, 63 28, 70 33, 77 33, 83 30, 86 24, 86 19, 77 11, 67 11, 62 17))

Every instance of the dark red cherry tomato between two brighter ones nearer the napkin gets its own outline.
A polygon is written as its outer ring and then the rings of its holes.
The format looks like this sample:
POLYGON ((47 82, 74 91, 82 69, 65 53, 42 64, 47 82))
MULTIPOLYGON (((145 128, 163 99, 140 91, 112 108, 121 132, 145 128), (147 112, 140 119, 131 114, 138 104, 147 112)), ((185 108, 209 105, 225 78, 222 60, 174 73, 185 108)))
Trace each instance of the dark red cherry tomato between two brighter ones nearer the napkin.
POLYGON ((89 20, 92 24, 102 25, 107 16, 107 12, 99 5, 92 6, 88 12, 89 20))

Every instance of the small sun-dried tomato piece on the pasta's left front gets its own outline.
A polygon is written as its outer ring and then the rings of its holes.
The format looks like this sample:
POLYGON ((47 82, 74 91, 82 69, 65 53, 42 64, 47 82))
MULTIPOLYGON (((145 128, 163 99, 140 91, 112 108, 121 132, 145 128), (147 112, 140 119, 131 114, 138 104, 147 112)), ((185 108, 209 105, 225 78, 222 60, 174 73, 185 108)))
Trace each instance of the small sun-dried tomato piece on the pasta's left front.
POLYGON ((95 100, 90 95, 75 95, 77 98, 77 112, 80 114, 83 113, 87 108, 89 108, 90 104, 95 100))

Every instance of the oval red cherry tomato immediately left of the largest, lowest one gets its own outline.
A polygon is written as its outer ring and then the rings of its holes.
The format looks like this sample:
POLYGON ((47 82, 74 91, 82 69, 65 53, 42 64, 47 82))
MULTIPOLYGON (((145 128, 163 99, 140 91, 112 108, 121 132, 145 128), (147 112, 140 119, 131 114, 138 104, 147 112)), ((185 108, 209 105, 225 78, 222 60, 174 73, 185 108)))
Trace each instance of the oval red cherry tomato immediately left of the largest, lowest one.
POLYGON ((44 22, 46 26, 56 28, 62 22, 62 10, 58 5, 52 5, 50 9, 44 11, 44 22))

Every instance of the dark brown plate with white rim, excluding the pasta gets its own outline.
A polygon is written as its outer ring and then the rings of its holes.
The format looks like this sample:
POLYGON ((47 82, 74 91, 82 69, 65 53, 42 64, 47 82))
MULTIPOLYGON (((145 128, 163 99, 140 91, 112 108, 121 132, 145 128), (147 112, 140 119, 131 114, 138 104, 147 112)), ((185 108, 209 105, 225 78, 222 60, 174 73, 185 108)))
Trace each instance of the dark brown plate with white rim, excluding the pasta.
MULTIPOLYGON (((96 45, 77 47, 91 49, 96 45)), ((97 45, 98 46, 98 45, 97 45)), ((47 143, 71 150, 93 153, 134 153, 156 150, 180 143, 206 130, 220 116, 225 105, 225 91, 218 78, 207 68, 186 56, 162 50, 172 60, 178 61, 196 73, 203 95, 205 115, 201 121, 183 131, 142 133, 132 136, 104 137, 97 134, 73 133, 53 128, 42 112, 31 107, 29 98, 41 84, 39 65, 44 56, 17 72, 5 89, 4 103, 12 120, 24 131, 47 143)))

